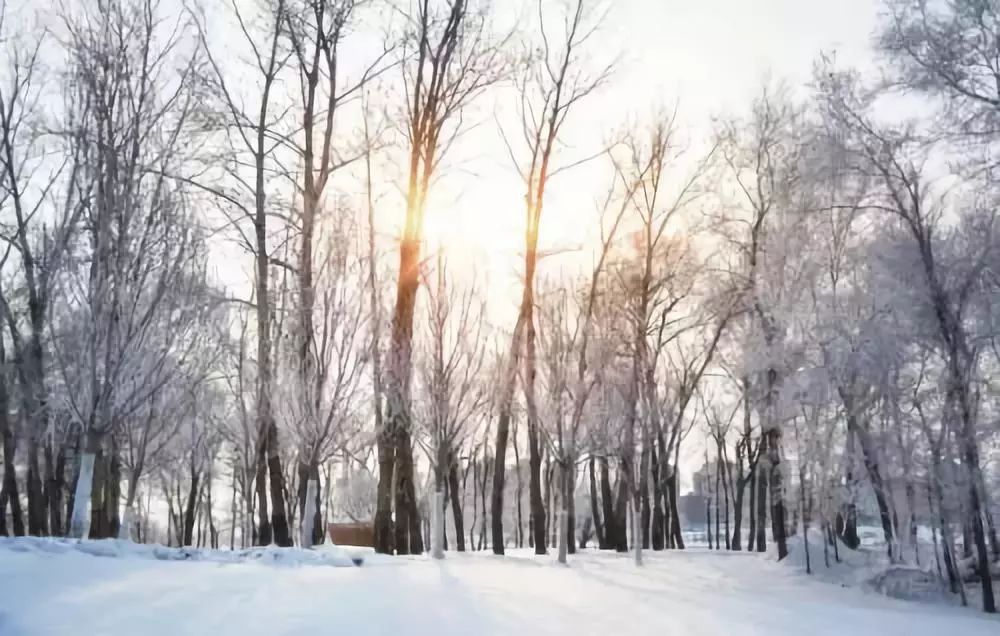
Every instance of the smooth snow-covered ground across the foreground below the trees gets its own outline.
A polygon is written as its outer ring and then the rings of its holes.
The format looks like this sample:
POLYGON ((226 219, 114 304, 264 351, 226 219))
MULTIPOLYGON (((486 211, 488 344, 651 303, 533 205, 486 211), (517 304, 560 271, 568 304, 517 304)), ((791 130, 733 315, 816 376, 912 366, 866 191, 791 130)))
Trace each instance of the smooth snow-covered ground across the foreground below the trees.
POLYGON ((970 609, 824 583, 748 553, 647 552, 641 569, 591 551, 569 567, 524 552, 367 554, 354 567, 330 548, 92 545, 0 539, 0 635, 1000 633, 970 609))

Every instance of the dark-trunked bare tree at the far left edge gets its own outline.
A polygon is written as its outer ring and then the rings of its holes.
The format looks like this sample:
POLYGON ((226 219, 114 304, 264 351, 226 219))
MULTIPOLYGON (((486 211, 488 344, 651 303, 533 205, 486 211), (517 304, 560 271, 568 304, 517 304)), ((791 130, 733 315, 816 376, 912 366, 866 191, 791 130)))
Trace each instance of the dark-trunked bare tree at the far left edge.
MULTIPOLYGON (((6 2, 0 4, 0 32, 5 36, 5 81, 0 86, 0 205, 11 219, 2 240, 6 245, 2 262, 16 255, 17 276, 0 293, 4 322, 11 345, 23 413, 27 417, 28 531, 31 534, 63 532, 60 512, 61 474, 56 468, 61 448, 54 448, 51 426, 50 387, 46 381, 48 355, 45 348, 48 311, 55 280, 60 272, 82 211, 80 182, 80 136, 82 120, 90 108, 85 86, 66 91, 62 125, 49 129, 52 113, 43 107, 44 92, 40 52, 44 31, 27 29, 39 36, 13 35, 18 28, 8 23, 6 2), (45 160, 48 141, 64 151, 54 168, 45 160), (44 219, 44 222, 43 222, 44 219), (12 288, 13 287, 13 288, 12 288), (26 307, 8 305, 8 299, 25 297, 26 307), (45 486, 43 490, 39 446, 45 442, 45 486), (53 486, 58 484, 58 489, 53 486), (46 509, 46 500, 48 509, 46 509)), ((22 27, 24 25, 21 25, 22 27)), ((16 437, 6 438, 4 448, 13 457, 16 437), (9 449, 9 450, 6 450, 9 449)), ((11 467, 11 470, 13 468, 11 467)), ((8 485, 12 513, 18 519, 20 501, 15 501, 13 482, 8 485), (15 507, 17 508, 15 510, 15 507)))

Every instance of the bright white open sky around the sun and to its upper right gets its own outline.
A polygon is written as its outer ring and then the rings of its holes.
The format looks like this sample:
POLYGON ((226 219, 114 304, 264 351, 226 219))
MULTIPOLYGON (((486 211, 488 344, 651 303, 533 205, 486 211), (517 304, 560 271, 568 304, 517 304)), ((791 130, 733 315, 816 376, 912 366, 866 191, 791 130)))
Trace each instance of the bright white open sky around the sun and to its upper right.
MULTIPOLYGON (((550 5, 558 15, 561 2, 546 0, 547 10, 550 5)), ((844 64, 870 65, 868 42, 879 2, 614 0, 611 6, 604 35, 589 50, 595 65, 618 52, 621 62, 607 87, 571 115, 564 135, 569 147, 560 149, 557 165, 591 154, 614 131, 647 122, 657 110, 675 104, 682 136, 693 146, 705 143, 712 118, 744 112, 768 75, 792 86, 809 81, 823 50, 835 50, 844 64)), ((495 103, 490 107, 497 108, 495 103)), ((491 297, 504 294, 494 304, 514 306, 506 299, 518 294, 523 186, 495 123, 482 114, 479 119, 484 123, 471 134, 474 142, 456 149, 462 159, 452 163, 461 169, 445 177, 436 205, 428 211, 427 239, 443 242, 453 252, 474 254, 477 267, 491 279, 491 297)), ((510 136, 516 132, 513 122, 509 128, 510 136)), ((696 156, 692 152, 692 159, 696 156)), ((594 162, 553 182, 542 245, 592 245, 594 201, 610 178, 608 165, 594 162)), ((565 267, 565 260, 553 259, 543 267, 552 272, 565 267)))

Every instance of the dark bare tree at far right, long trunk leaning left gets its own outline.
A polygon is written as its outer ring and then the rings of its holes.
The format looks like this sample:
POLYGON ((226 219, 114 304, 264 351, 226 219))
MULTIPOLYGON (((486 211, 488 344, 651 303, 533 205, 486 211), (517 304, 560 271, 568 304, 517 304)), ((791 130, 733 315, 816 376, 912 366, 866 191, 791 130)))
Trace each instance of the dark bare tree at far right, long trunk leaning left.
MULTIPOLYGON (((979 206, 959 208, 960 219, 979 237, 967 243, 964 266, 945 271, 939 233, 947 230, 944 207, 933 187, 926 183, 923 166, 928 146, 912 129, 880 126, 870 114, 872 99, 850 74, 828 72, 821 84, 823 106, 829 121, 836 126, 839 139, 851 161, 847 170, 870 176, 876 189, 866 200, 872 209, 892 215, 912 249, 911 264, 919 272, 918 288, 925 310, 938 339, 944 362, 942 384, 956 417, 957 447, 967 471, 966 497, 968 524, 972 529, 976 567, 983 589, 983 610, 995 612, 993 585, 989 574, 990 557, 983 524, 985 514, 980 488, 981 464, 978 441, 978 418, 973 382, 978 368, 978 353, 971 344, 973 334, 965 313, 969 311, 972 290, 991 262, 996 249, 995 214, 979 206), (974 228, 974 229, 973 229, 974 228)), ((961 228, 961 231, 964 228, 961 228)))

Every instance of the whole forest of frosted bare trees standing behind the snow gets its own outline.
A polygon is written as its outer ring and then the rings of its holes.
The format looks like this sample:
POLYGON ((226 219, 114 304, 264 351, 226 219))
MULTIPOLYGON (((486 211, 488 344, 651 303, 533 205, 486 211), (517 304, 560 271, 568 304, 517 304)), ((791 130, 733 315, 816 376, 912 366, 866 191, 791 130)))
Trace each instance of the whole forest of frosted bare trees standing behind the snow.
POLYGON ((614 2, 3 4, 0 535, 641 565, 703 466, 714 549, 874 526, 995 611, 1000 1, 699 136, 587 121, 614 2), (514 272, 425 231, 482 148, 514 272))

